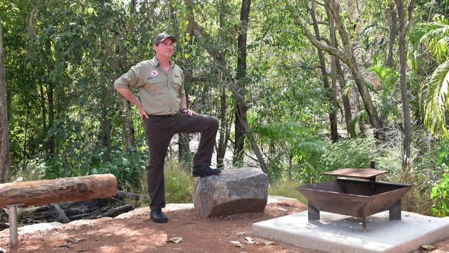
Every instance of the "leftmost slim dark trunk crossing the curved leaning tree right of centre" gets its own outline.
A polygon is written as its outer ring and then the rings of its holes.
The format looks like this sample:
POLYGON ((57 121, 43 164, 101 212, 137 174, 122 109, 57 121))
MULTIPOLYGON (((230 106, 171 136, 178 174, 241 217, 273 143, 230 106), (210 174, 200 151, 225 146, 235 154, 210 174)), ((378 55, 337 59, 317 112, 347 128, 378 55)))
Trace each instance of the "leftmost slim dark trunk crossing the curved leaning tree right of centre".
MULTIPOLYGON (((312 22, 314 25, 315 37, 320 40, 320 30, 318 29, 318 22, 316 21, 315 16, 315 2, 312 1, 312 8, 309 9, 310 16, 312 17, 312 22)), ((336 95, 334 96, 334 91, 329 86, 329 79, 327 79, 327 70, 326 70, 326 62, 323 55, 323 50, 320 48, 316 48, 318 52, 318 56, 320 57, 320 65, 321 65, 321 75, 323 76, 323 84, 325 91, 327 93, 327 97, 332 101, 332 108, 329 110, 329 121, 330 121, 330 133, 332 142, 336 142, 338 140, 337 133, 337 119, 336 119, 336 95)), ((332 56, 334 57, 334 56, 332 56)), ((334 82, 334 76, 332 77, 332 82, 334 82)), ((334 84, 332 84, 334 86, 334 84)), ((336 93, 335 93, 336 94, 336 93)))

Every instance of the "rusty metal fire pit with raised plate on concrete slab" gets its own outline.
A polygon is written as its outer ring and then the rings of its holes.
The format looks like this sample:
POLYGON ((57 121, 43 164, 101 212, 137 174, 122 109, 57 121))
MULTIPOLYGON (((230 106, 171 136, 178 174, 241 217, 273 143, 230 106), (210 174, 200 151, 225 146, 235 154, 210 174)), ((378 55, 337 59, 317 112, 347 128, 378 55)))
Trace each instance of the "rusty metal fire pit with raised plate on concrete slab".
POLYGON ((366 217, 390 211, 390 221, 401 220, 401 198, 412 187, 410 184, 376 182, 386 171, 375 169, 340 169, 326 174, 361 177, 337 178, 330 182, 296 187, 308 200, 309 222, 320 220, 320 211, 362 218, 366 231, 366 217))

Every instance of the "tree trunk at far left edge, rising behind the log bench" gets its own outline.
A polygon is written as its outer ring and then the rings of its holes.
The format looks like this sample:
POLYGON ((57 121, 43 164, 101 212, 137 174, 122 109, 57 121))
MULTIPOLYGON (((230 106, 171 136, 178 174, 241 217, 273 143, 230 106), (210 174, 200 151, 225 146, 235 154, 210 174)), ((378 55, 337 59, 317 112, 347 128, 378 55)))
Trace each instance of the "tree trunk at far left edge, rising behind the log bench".
POLYGON ((6 107, 6 82, 3 60, 3 32, 0 22, 0 184, 9 171, 10 152, 8 140, 8 109, 6 107))

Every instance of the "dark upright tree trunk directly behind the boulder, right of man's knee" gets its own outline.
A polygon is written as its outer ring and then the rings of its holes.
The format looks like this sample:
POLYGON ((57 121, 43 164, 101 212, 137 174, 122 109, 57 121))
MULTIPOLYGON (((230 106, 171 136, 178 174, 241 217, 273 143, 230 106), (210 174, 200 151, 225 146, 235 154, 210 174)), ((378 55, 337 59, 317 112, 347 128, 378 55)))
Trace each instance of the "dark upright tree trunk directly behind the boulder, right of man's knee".
POLYGON ((247 122, 247 106, 245 102, 246 93, 246 77, 247 77, 247 30, 249 23, 249 9, 251 0, 242 0, 242 8, 240 9, 240 29, 237 39, 237 91, 238 96, 235 97, 235 134, 233 164, 243 162, 243 149, 245 147, 245 129, 243 124, 247 122))

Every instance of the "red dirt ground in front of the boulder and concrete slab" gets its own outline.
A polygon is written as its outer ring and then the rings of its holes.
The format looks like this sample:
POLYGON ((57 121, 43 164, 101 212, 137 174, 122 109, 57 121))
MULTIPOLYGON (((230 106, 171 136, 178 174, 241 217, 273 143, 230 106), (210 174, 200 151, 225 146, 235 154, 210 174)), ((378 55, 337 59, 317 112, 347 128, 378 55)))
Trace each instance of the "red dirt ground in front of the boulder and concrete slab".
MULTIPOLYGON (((130 218, 103 218, 84 225, 20 234, 19 248, 11 252, 316 252, 252 234, 253 223, 305 208, 301 204, 271 203, 264 213, 220 218, 200 218, 194 209, 182 209, 166 212, 169 223, 163 224, 150 221, 146 212, 130 218), (254 239, 254 243, 247 243, 246 236, 254 239), (167 238, 173 237, 182 237, 182 241, 167 242, 167 238), (240 247, 231 241, 239 241, 240 247)), ((0 234, 0 247, 8 249, 9 238, 5 232, 0 234)), ((430 252, 449 252, 449 239, 434 246, 430 252)))

